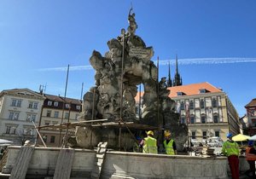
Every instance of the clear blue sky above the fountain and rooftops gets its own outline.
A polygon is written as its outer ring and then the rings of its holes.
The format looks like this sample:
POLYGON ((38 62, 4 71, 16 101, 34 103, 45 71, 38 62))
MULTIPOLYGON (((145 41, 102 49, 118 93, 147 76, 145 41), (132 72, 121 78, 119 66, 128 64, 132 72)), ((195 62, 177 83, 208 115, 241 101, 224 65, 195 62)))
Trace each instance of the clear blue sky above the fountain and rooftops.
POLYGON ((242 116, 256 97, 256 1, 1 0, 0 90, 28 88, 80 98, 94 85, 89 58, 127 28, 131 3, 137 35, 160 57, 160 77, 175 55, 183 84, 220 87, 242 116))

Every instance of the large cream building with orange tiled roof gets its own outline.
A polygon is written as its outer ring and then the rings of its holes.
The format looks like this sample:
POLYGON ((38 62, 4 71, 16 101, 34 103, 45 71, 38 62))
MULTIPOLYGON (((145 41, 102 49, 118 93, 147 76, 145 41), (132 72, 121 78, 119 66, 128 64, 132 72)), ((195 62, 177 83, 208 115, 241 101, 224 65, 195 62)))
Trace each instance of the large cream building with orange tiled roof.
POLYGON ((226 133, 240 133, 239 116, 228 95, 207 82, 168 88, 176 101, 180 123, 188 124, 189 136, 205 141, 209 136, 226 140, 226 133))

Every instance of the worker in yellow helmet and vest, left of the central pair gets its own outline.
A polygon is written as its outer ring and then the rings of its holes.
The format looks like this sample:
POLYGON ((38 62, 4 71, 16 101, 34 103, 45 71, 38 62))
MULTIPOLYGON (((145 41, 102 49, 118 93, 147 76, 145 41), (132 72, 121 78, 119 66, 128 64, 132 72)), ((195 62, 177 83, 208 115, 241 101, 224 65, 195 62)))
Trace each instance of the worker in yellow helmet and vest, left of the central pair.
POLYGON ((156 139, 154 139, 154 132, 148 130, 147 137, 140 143, 140 147, 143 147, 143 153, 157 153, 156 139))

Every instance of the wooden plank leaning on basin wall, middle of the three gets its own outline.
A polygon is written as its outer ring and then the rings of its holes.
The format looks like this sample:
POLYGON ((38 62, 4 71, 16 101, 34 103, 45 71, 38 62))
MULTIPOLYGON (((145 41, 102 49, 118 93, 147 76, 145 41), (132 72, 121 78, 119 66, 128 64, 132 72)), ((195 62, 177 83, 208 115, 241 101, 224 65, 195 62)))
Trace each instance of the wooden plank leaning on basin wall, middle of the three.
POLYGON ((54 179, 69 179, 74 159, 74 150, 62 148, 55 167, 54 179))

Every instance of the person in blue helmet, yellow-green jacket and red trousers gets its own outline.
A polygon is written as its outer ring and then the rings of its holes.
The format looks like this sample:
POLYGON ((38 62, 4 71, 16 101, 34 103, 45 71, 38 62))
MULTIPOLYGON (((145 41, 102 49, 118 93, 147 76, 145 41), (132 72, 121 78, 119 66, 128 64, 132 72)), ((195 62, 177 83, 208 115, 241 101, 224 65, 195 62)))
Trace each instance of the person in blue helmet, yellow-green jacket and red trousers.
POLYGON ((222 153, 228 157, 230 171, 233 179, 239 179, 239 146, 236 141, 233 141, 232 134, 227 134, 227 141, 224 141, 222 153))

